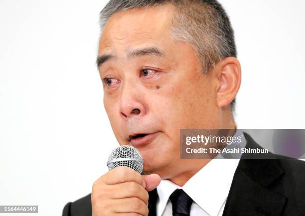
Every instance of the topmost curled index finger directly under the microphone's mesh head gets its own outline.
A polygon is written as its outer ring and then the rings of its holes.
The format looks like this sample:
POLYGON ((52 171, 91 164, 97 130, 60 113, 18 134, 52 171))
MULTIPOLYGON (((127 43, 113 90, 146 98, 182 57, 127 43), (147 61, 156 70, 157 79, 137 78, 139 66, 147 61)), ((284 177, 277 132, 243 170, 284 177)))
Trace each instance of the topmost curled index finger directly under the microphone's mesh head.
POLYGON ((107 185, 114 185, 131 181, 142 185, 143 181, 140 173, 124 166, 119 166, 113 170, 110 170, 108 173, 101 177, 101 180, 107 185))

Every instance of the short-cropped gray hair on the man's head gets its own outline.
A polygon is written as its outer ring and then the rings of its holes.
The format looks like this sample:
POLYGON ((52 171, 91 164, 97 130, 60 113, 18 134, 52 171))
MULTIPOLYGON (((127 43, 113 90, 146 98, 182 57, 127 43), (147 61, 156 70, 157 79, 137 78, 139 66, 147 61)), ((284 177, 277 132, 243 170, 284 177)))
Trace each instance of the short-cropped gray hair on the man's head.
MULTIPOLYGON (((227 13, 217 0, 110 0, 100 12, 101 29, 116 12, 167 3, 176 8, 171 38, 193 46, 204 74, 222 59, 237 56, 234 31, 227 13)), ((232 110, 234 106, 235 99, 231 102, 232 110)))

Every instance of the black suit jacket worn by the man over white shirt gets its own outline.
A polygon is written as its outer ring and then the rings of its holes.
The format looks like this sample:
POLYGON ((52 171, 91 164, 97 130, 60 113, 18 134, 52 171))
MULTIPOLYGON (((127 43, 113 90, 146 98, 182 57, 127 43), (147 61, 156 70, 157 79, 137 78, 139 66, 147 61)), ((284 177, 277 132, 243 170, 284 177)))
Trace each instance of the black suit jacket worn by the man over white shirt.
MULTIPOLYGON (((262 149, 247 133, 245 137, 246 147, 262 149)), ((223 216, 305 216, 305 162, 268 154, 274 159, 242 156, 223 216)), ((155 216, 156 189, 149 195, 149 216, 155 216)), ((91 194, 66 204, 63 216, 92 216, 91 194)))

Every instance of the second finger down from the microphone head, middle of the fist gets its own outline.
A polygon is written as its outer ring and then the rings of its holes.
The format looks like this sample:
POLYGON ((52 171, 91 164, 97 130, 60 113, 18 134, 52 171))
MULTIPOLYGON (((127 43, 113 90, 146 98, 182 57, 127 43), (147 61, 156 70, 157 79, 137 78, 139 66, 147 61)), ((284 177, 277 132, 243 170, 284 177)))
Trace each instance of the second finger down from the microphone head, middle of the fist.
POLYGON ((125 182, 109 186, 109 196, 111 199, 122 199, 128 197, 137 197, 148 204, 148 192, 136 182, 125 182))

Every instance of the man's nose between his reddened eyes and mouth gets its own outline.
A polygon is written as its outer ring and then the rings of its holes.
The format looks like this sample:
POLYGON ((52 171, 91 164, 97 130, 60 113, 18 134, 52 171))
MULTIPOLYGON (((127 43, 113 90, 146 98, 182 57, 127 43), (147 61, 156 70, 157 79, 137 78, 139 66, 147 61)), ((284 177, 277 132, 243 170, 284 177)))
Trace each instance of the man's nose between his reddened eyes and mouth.
POLYGON ((144 94, 135 84, 123 84, 120 98, 120 114, 124 119, 142 116, 146 113, 144 94))

